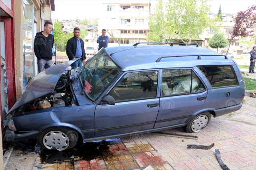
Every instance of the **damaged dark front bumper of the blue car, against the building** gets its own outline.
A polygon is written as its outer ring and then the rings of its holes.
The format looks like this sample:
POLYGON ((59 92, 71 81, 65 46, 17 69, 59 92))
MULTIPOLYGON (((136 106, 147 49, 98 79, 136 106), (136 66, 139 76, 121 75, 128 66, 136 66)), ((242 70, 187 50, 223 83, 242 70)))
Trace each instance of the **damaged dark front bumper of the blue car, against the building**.
POLYGON ((22 134, 15 134, 13 130, 10 130, 9 127, 7 127, 4 134, 4 140, 6 140, 7 142, 19 142, 35 138, 39 133, 40 130, 33 130, 22 134))

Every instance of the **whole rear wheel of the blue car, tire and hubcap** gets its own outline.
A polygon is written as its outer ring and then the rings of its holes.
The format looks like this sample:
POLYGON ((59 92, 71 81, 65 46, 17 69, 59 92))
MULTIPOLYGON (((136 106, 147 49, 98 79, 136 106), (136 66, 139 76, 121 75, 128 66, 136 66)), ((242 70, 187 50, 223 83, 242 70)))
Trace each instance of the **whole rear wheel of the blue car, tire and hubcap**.
POLYGON ((182 127, 186 132, 200 132, 211 120, 211 114, 208 111, 202 112, 193 117, 186 126, 182 127))

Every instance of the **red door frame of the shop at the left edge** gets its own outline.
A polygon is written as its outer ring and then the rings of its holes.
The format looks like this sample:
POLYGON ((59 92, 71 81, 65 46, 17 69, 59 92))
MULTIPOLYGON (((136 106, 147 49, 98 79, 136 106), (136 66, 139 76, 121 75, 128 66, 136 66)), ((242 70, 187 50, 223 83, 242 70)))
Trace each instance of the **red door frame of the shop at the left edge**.
MULTIPOLYGON (((15 65, 14 65, 14 23, 13 18, 1 16, 1 22, 4 22, 5 29, 5 51, 6 51, 6 79, 8 94, 8 109, 10 110, 16 102, 16 83, 15 83, 15 65)), ((0 80, 1 81, 1 80, 0 80)), ((4 81, 4 80, 2 80, 4 81)), ((1 103, 0 103, 1 105, 1 103)), ((0 108, 2 109, 2 107, 0 108)), ((3 118, 0 115, 3 130, 3 118)))

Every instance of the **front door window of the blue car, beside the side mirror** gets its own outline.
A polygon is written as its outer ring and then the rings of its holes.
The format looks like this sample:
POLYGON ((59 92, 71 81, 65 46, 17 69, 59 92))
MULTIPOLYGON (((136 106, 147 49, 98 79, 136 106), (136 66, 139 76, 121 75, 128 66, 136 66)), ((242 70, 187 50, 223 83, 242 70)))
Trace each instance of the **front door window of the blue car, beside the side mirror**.
POLYGON ((148 99, 156 97, 158 71, 127 73, 108 95, 115 101, 148 99))

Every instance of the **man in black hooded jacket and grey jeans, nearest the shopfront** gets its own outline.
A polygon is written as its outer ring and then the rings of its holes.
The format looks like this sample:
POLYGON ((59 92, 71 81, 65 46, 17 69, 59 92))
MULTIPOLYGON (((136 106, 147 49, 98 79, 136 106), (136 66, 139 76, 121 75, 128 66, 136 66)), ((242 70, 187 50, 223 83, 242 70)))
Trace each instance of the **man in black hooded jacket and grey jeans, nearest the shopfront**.
POLYGON ((52 67, 52 47, 54 37, 52 33, 52 23, 45 22, 44 31, 36 33, 34 41, 34 53, 37 57, 38 72, 42 72, 52 67))

